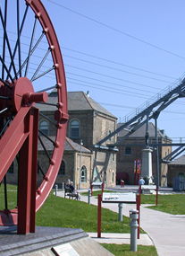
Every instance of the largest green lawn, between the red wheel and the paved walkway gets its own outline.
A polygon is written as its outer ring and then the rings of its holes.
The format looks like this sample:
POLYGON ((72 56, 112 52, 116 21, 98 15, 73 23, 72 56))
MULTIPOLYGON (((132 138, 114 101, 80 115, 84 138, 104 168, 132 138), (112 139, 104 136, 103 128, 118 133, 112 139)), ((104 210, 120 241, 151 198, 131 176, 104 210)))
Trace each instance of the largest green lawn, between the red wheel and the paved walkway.
MULTIPOLYGON (((45 204, 38 210, 36 225, 74 227, 85 232, 97 232, 97 206, 55 197, 50 193, 45 204)), ((123 216, 120 222, 118 213, 102 208, 102 232, 130 233, 130 219, 123 216)))

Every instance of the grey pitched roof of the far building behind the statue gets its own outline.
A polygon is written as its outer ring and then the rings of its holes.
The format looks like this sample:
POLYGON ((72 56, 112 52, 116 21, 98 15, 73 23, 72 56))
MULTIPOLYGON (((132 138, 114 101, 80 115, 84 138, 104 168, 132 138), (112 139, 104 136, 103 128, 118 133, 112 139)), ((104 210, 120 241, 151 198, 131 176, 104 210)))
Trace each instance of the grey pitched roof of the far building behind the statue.
MULTIPOLYGON (((119 128, 122 125, 122 123, 117 124, 117 128, 119 128)), ((156 137, 156 127, 152 122, 148 122, 148 132, 149 132, 149 137, 156 137)), ((118 137, 123 137, 128 133, 127 130, 122 129, 118 133, 118 137)), ((160 130, 159 128, 157 129, 158 137, 167 137, 164 134, 164 130, 160 130)), ((135 132, 133 132, 130 137, 145 137, 146 135, 146 124, 141 126, 139 129, 137 129, 135 132)), ((167 137, 169 138, 169 137, 167 137)))

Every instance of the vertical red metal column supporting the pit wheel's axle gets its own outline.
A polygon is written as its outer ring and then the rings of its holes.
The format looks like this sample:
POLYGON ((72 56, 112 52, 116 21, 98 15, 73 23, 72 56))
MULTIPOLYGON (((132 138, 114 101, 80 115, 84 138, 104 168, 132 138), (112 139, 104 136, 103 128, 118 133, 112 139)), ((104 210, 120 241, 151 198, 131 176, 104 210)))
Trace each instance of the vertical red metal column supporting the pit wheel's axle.
POLYGON ((18 234, 35 232, 37 163, 38 163, 38 109, 30 109, 25 118, 25 132, 29 132, 19 155, 18 234))

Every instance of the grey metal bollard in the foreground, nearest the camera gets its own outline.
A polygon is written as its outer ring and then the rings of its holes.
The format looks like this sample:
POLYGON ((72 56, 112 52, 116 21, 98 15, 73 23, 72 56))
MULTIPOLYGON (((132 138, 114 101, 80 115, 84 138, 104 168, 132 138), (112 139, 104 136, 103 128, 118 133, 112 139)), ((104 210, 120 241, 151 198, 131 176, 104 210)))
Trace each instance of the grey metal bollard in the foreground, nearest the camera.
POLYGON ((130 210, 130 251, 132 252, 137 252, 138 213, 137 209, 130 210))

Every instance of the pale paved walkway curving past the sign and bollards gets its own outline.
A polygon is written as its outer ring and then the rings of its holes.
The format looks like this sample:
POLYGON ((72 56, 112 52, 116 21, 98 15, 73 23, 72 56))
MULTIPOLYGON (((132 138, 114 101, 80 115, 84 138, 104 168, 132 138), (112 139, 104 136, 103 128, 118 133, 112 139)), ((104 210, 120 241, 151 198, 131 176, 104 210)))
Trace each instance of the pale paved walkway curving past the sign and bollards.
MULTIPOLYGON (((129 190, 127 189, 126 191, 129 190)), ((58 196, 63 197, 63 192, 58 192, 58 196)), ((81 200, 88 202, 88 197, 81 196, 81 200)), ((97 205, 97 199, 92 197, 91 204, 97 205)), ((119 211, 117 204, 103 203, 102 207, 117 213, 119 211)), ((129 216, 130 209, 133 207, 134 205, 123 204, 122 214, 129 216)), ((140 226, 147 234, 140 234, 138 244, 154 244, 159 256, 185 255, 185 216, 173 216, 141 205, 140 226)), ((128 234, 102 234, 102 238, 97 238, 97 234, 89 234, 89 236, 96 239, 98 243, 130 243, 128 234)))

